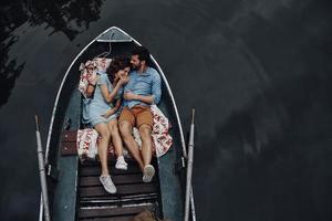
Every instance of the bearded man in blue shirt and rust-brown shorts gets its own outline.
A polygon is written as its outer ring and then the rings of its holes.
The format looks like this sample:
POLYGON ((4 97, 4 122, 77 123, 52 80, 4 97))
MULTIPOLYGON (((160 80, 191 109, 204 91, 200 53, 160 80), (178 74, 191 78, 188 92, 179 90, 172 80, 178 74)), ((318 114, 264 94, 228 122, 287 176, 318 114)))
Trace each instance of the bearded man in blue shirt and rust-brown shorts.
POLYGON ((143 171, 143 181, 151 182, 155 169, 151 165, 153 140, 152 104, 158 104, 162 96, 162 82, 158 72, 149 66, 149 52, 138 46, 132 52, 133 71, 129 82, 124 87, 124 108, 118 124, 123 140, 131 155, 138 162, 143 171), (142 139, 142 151, 133 137, 133 127, 137 127, 142 139))

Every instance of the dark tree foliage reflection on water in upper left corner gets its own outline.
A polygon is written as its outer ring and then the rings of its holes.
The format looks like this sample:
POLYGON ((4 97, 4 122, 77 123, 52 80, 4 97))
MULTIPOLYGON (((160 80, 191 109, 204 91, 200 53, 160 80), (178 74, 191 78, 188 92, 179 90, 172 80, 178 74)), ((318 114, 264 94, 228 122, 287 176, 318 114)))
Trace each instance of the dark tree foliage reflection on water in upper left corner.
POLYGON ((72 41, 80 32, 87 30, 91 22, 100 19, 102 3, 103 0, 2 2, 0 107, 7 103, 15 80, 24 67, 24 63, 18 64, 15 59, 8 56, 10 48, 20 38, 12 32, 25 22, 30 27, 46 24, 45 29, 53 29, 50 35, 62 32, 72 41))

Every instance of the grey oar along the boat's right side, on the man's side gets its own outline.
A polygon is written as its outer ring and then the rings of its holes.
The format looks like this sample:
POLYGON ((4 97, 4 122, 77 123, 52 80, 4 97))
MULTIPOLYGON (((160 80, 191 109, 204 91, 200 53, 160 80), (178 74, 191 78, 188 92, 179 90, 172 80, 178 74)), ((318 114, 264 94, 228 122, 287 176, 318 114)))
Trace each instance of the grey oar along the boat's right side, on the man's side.
POLYGON ((193 175, 193 162, 194 162, 194 131, 195 131, 195 109, 193 109, 190 134, 189 134, 189 145, 188 145, 185 221, 189 220, 189 206, 190 204, 191 204, 193 220, 196 220, 193 187, 191 187, 191 175, 193 175), (190 204, 189 204, 189 200, 190 200, 190 204))

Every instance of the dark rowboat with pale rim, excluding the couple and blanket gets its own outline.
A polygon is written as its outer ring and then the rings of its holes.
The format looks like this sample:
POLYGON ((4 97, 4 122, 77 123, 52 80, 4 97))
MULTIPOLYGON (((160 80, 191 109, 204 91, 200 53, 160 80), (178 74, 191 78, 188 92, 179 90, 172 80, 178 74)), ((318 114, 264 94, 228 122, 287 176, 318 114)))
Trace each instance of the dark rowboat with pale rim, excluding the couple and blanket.
POLYGON ((190 220, 196 220, 191 186, 187 185, 190 190, 185 191, 187 148, 180 118, 167 78, 153 56, 152 66, 158 71, 163 81, 158 107, 172 123, 169 134, 174 139, 166 155, 153 159, 156 168, 153 182, 142 182, 142 171, 135 160, 126 159, 128 170, 120 171, 114 168, 111 159, 110 171, 117 193, 110 194, 98 182, 98 162, 81 164, 79 160, 76 130, 82 128, 82 95, 77 90, 80 64, 101 55, 129 55, 136 45, 141 44, 134 38, 112 27, 91 41, 64 74, 46 139, 43 164, 48 191, 42 196, 48 199, 41 197, 40 221, 45 220, 45 213, 53 221, 127 221, 144 210, 153 211, 159 219, 179 221, 186 217, 186 194, 187 199, 190 194, 190 220))

